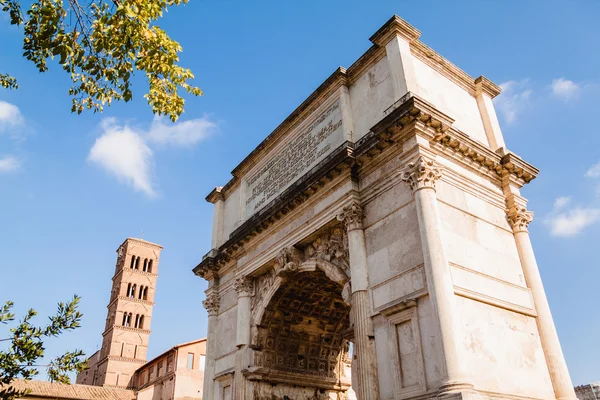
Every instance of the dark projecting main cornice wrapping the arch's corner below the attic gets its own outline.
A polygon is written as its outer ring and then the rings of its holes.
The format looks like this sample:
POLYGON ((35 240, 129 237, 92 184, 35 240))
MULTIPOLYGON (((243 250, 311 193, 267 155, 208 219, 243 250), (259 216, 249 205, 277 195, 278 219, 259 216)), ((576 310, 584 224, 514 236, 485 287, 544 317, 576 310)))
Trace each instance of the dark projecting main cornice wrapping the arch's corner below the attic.
POLYGON ((254 236, 260 235, 290 210, 308 200, 344 169, 350 168, 350 179, 358 180, 363 164, 370 163, 372 158, 378 157, 391 146, 400 145, 409 135, 425 136, 430 142, 441 146, 441 150, 449 153, 455 162, 469 167, 475 163, 498 178, 507 174, 515 175, 523 183, 535 178, 537 170, 516 155, 493 152, 454 129, 451 126, 453 122, 451 117, 427 101, 408 93, 392 105, 388 114, 358 142, 344 143, 260 212, 251 216, 231 233, 229 240, 219 249, 211 250, 194 268, 194 273, 208 280, 218 277, 219 269, 235 260, 254 236), (410 127, 412 129, 407 129, 410 127))

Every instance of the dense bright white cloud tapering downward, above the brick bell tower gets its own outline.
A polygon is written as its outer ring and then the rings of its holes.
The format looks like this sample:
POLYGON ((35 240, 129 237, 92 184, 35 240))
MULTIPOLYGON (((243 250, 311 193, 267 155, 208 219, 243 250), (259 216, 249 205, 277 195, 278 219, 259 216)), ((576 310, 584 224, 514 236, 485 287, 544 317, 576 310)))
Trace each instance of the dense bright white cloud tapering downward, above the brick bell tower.
POLYGON ((88 161, 98 164, 134 189, 155 197, 152 184, 152 150, 142 135, 114 119, 102 122, 102 135, 92 146, 88 161))

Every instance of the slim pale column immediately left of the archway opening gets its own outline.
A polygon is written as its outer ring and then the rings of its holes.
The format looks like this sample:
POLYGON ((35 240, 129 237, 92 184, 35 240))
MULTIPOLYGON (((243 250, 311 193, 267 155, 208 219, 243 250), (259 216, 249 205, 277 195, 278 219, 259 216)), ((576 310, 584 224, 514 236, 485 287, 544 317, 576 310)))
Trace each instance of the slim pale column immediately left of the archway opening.
POLYGON ((243 370, 248 368, 248 346, 250 345, 250 316, 252 313, 250 299, 254 292, 252 278, 241 276, 233 284, 238 295, 237 331, 235 356, 235 375, 233 377, 234 399, 246 399, 246 380, 243 370))

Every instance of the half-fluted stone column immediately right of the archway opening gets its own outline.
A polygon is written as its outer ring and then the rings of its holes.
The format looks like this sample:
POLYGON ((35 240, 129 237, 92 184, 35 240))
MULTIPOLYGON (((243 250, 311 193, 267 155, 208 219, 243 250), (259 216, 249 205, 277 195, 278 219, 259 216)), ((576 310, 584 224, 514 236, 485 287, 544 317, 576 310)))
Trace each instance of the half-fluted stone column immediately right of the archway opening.
POLYGON ((371 305, 367 292, 369 279, 367 273, 367 247, 365 233, 362 229, 362 207, 357 202, 352 202, 349 206, 344 207, 337 218, 344 222, 348 230, 352 290, 352 308, 350 312, 354 322, 352 380, 358 386, 354 388, 354 391, 359 400, 376 400, 379 398, 377 358, 373 337, 373 321, 371 320, 371 305))

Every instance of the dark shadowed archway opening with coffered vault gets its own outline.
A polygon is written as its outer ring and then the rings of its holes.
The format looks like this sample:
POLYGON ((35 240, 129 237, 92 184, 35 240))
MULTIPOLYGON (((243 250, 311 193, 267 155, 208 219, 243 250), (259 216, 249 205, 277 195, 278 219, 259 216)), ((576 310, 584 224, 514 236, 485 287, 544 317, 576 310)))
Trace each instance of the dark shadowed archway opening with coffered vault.
POLYGON ((278 382, 282 393, 286 385, 346 391, 349 313, 342 286, 320 269, 287 276, 258 326, 255 366, 266 371, 261 380, 278 382))

